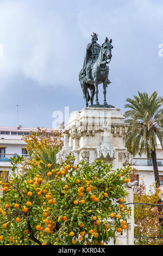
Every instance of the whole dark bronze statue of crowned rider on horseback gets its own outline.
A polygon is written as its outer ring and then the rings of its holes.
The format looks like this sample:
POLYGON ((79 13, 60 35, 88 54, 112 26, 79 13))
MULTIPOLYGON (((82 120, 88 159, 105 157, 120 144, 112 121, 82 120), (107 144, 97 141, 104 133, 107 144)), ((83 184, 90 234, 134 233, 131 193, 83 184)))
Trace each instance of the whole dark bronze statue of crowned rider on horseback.
POLYGON ((84 58, 84 64, 82 70, 79 72, 79 81, 83 90, 83 96, 86 102, 91 101, 91 105, 94 107, 114 107, 108 105, 106 102, 106 87, 111 82, 108 79, 109 66, 112 54, 111 45, 112 40, 105 38, 104 44, 100 46, 97 44, 97 34, 93 33, 92 41, 86 47, 86 54, 84 58), (98 102, 98 84, 103 83, 104 105, 99 105, 98 102), (91 92, 91 96, 89 91, 91 92), (96 105, 93 105, 93 97, 96 95, 96 105))

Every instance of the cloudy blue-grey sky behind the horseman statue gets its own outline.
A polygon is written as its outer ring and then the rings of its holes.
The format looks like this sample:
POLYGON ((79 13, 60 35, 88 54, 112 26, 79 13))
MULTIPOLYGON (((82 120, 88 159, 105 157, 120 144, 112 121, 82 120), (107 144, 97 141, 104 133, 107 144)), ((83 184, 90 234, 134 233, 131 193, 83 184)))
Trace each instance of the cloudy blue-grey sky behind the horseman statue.
POLYGON ((162 1, 0 0, 0 126, 17 126, 16 105, 27 127, 52 127, 54 111, 85 107, 78 74, 92 32, 114 46, 108 104, 124 113, 138 90, 163 95, 162 1))

